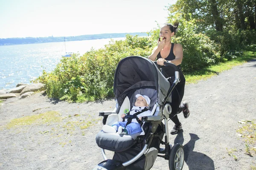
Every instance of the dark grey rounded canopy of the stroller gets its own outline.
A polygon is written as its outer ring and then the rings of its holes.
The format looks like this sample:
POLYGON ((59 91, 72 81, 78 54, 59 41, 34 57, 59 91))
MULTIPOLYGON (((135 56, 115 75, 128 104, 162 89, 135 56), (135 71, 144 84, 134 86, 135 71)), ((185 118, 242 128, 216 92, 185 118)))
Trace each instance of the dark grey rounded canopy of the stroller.
POLYGON ((122 105, 125 99, 125 95, 123 95, 125 90, 140 88, 134 86, 138 82, 140 82, 140 86, 157 90, 157 102, 160 105, 163 104, 163 100, 171 87, 169 81, 151 60, 139 56, 125 57, 117 65, 114 76, 113 91, 119 105, 122 105))

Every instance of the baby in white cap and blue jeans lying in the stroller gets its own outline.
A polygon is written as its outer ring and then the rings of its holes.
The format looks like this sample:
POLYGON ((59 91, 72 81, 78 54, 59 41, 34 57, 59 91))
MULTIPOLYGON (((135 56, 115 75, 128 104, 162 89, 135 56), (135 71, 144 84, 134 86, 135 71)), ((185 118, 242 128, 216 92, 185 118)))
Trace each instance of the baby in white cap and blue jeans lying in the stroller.
MULTIPOLYGON (((131 108, 130 115, 134 115, 137 112, 141 112, 140 114, 137 115, 137 118, 139 122, 141 121, 141 117, 143 116, 151 116, 151 111, 149 111, 149 105, 151 102, 151 99, 148 96, 137 94, 135 96, 136 102, 135 106, 131 108), (144 111, 143 111, 144 109, 144 111)), ((121 117, 124 118, 126 114, 122 114, 121 117)), ((126 125, 128 122, 128 119, 125 119, 124 122, 115 122, 113 123, 112 126, 109 125, 104 125, 102 127, 102 130, 105 133, 119 133, 119 134, 134 134, 134 133, 139 133, 142 132, 141 125, 137 121, 137 119, 132 119, 131 123, 126 125), (125 127, 126 126, 126 127, 125 127)))

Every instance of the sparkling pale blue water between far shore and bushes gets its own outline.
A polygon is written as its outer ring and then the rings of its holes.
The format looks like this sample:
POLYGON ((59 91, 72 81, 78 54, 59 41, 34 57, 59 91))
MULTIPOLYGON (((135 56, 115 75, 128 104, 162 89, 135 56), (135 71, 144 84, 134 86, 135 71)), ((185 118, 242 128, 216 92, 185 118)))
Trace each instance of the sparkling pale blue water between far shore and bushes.
MULTIPOLYGON (((66 51, 81 56, 91 48, 104 48, 110 40, 67 41, 66 51)), ((18 83, 31 84, 33 79, 42 75, 43 70, 54 70, 61 55, 65 55, 64 42, 0 46, 0 90, 15 88, 18 83)))

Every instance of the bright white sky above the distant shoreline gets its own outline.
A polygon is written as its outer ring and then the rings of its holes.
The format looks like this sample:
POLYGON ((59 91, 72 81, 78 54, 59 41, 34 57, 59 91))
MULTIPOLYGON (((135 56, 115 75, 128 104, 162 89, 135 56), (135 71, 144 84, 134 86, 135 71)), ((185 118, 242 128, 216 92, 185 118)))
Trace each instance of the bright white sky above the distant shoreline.
POLYGON ((0 0, 0 38, 146 32, 176 0, 0 0))

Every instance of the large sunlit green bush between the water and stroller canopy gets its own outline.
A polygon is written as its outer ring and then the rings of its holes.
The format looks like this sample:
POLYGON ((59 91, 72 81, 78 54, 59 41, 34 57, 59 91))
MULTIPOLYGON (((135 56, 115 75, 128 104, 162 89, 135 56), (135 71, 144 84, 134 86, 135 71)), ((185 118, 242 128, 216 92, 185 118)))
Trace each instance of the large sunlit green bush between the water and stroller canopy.
POLYGON ((69 102, 86 102, 113 97, 116 66, 125 57, 147 57, 152 47, 149 37, 127 35, 126 40, 113 41, 105 48, 91 49, 82 57, 65 57, 56 68, 35 82, 46 84, 49 97, 69 102))

